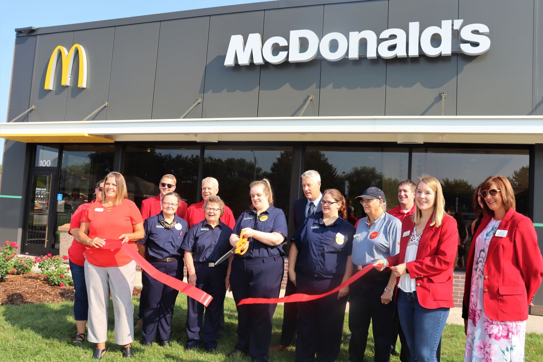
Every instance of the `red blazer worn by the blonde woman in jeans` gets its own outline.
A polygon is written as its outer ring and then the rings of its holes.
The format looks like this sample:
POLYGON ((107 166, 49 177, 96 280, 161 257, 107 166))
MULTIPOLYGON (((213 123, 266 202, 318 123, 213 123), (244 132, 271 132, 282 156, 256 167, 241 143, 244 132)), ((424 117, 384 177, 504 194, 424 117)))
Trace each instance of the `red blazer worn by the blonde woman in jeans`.
MULTIPOLYGON (((420 238, 416 259, 407 263, 407 271, 415 278, 416 295, 420 305, 428 309, 452 308, 452 284, 454 258, 458 251, 458 228, 456 220, 443 215, 439 227, 430 226, 433 215, 428 220, 420 238)), ((400 253, 387 258, 390 265, 404 263, 407 243, 413 232, 411 217, 404 217, 402 222, 402 238, 400 253), (403 236, 405 235, 405 236, 403 236)), ((400 278, 397 278, 397 283, 400 278)))

